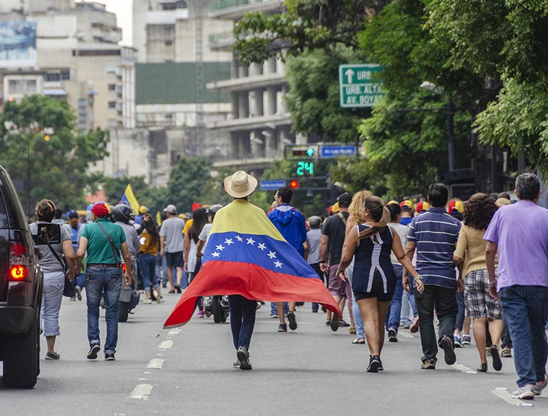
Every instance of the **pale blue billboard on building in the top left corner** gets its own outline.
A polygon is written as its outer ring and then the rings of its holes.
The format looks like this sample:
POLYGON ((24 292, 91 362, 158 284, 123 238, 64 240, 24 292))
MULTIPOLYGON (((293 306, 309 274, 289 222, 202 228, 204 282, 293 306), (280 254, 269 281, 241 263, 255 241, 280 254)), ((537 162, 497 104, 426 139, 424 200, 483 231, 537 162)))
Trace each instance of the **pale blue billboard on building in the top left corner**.
POLYGON ((36 65, 36 23, 0 21, 0 68, 36 65))

